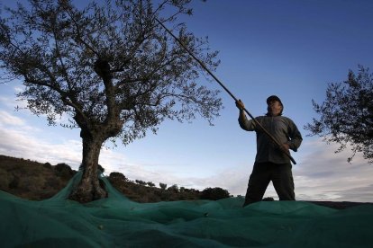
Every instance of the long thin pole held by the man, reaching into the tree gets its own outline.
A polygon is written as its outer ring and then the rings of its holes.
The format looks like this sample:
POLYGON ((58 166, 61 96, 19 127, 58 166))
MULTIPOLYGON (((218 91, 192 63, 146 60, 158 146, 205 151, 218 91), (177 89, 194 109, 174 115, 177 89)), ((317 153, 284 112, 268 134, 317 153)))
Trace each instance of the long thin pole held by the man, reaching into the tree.
MULTIPOLYGON (((225 90, 225 92, 226 93, 229 93, 231 96, 232 96, 232 98, 234 99, 234 101, 235 102, 237 102, 238 101, 238 99, 230 92, 230 90, 227 88, 227 87, 225 87, 225 85, 219 80, 219 78, 217 78, 206 66, 205 66, 205 64, 201 61, 201 60, 199 60, 198 58, 196 58, 196 56, 189 50, 189 49, 187 49, 187 47, 183 44, 183 42, 181 42, 181 40, 179 40, 171 31, 169 31, 168 30, 168 28, 162 23, 162 22, 160 22, 157 18, 155 19, 157 22, 159 22, 159 24, 175 39, 175 40, 177 40, 177 43, 183 48, 183 49, 185 49, 186 51, 187 51, 187 53, 192 57, 192 58, 194 58, 195 60, 196 60, 196 62, 198 62, 198 64, 202 67, 202 68, 204 68, 205 69, 205 71, 209 74, 209 75, 211 75, 213 78, 214 78, 214 80, 218 83, 218 84, 220 84, 222 87, 223 87, 223 89, 225 90)), ((250 116, 250 118, 252 119, 252 120, 254 120, 254 122, 255 122, 255 124, 256 125, 258 125, 259 126, 259 128, 261 128, 262 130, 263 130, 263 132, 278 146, 278 148, 285 154, 285 155, 287 155, 289 158, 290 158, 290 160, 291 160, 291 162, 293 162, 293 164, 296 164, 296 160, 290 155, 290 153, 284 148, 284 146, 282 146, 282 144, 280 144, 278 141, 277 141, 277 139, 275 138, 275 137, 273 137, 268 131, 267 131, 267 129, 266 128, 264 128, 260 123, 259 123, 259 121, 258 120, 256 120, 251 114, 250 114, 250 112, 248 111, 248 110, 246 110, 245 108, 243 108, 243 111, 245 111, 249 116, 250 116)))

